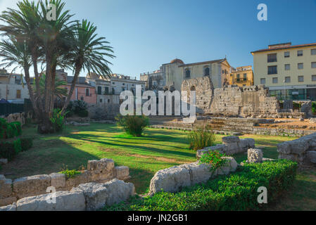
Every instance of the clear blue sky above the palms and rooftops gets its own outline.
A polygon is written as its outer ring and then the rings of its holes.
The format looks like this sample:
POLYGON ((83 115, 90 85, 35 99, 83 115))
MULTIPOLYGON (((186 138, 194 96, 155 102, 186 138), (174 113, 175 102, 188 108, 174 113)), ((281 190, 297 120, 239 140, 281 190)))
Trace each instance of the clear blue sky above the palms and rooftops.
MULTIPOLYGON (((0 0, 0 11, 15 2, 0 0)), ((268 44, 316 42, 316 0, 67 0, 66 7, 110 41, 113 72, 132 77, 176 57, 196 63, 227 56, 237 67, 253 65, 250 52, 268 44), (267 21, 257 20, 260 3, 267 21)))

